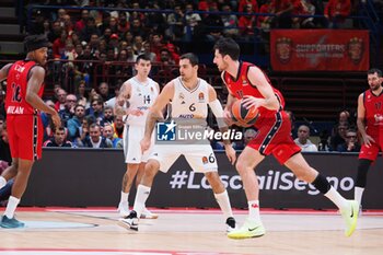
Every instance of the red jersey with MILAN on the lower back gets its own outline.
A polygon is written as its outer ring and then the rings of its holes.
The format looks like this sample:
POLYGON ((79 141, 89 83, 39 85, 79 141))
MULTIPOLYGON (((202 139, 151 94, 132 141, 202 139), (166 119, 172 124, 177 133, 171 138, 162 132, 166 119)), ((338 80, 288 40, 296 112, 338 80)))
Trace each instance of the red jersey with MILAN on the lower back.
MULTIPOLYGON (((7 78, 7 115, 31 115, 37 109, 30 105, 26 100, 26 88, 31 69, 36 66, 35 61, 20 60, 14 62, 8 72, 7 78)), ((43 96, 44 85, 38 91, 38 96, 43 96)))

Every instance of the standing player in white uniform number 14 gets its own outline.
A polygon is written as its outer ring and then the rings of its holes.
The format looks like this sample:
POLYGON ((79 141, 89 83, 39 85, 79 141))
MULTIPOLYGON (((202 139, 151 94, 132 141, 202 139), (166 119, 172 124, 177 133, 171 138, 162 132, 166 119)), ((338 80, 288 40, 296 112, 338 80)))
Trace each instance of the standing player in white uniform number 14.
MULTIPOLYGON (((149 108, 160 93, 159 84, 148 77, 151 70, 150 58, 146 55, 138 56, 135 68, 137 74, 123 84, 115 106, 116 115, 127 115, 123 138, 127 171, 123 178, 121 197, 118 205, 118 212, 121 217, 129 215, 129 190, 135 177, 137 185, 140 183, 150 153, 150 150, 141 153, 139 146, 143 138, 149 108)), ((153 139, 150 143, 152 142, 154 142, 153 139)), ((151 213, 146 208, 141 217, 147 219, 158 218, 156 215, 151 213)))

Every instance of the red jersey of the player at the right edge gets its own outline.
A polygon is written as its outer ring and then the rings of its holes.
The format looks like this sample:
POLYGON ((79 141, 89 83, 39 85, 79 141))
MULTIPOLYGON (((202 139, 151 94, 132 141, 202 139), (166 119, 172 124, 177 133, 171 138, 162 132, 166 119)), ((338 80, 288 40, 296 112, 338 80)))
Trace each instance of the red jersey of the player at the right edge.
POLYGON ((383 92, 374 95, 371 90, 364 91, 363 104, 368 134, 383 132, 383 92))

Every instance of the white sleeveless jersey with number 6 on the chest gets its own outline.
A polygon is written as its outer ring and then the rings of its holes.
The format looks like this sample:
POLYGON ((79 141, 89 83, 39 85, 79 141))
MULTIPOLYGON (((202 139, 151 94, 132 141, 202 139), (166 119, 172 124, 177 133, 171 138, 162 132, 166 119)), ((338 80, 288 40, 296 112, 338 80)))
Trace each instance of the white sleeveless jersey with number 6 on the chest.
POLYGON ((206 126, 209 103, 208 83, 198 78, 195 89, 187 89, 181 77, 173 80, 174 95, 172 100, 172 118, 183 123, 200 124, 206 126))

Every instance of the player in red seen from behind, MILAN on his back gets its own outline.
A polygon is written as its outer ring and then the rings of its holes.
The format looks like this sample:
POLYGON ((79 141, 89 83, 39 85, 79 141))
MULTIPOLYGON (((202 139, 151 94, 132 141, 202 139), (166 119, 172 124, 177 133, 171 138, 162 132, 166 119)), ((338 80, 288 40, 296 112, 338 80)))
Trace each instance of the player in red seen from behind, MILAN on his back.
POLYGON ((14 177, 12 194, 0 221, 0 227, 7 229, 24 227, 14 218, 14 211, 25 192, 33 163, 42 157, 44 134, 39 111, 50 114, 56 126, 61 125, 57 112, 40 98, 48 39, 44 35, 31 35, 25 38, 25 60, 9 63, 0 70, 0 81, 7 78, 7 127, 12 154, 12 165, 0 176, 0 188, 14 177))

